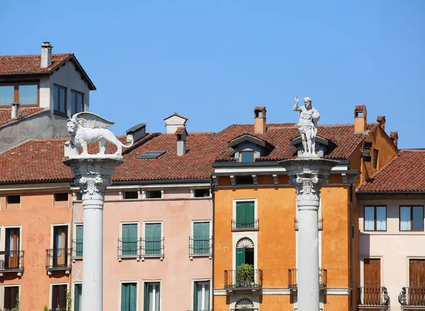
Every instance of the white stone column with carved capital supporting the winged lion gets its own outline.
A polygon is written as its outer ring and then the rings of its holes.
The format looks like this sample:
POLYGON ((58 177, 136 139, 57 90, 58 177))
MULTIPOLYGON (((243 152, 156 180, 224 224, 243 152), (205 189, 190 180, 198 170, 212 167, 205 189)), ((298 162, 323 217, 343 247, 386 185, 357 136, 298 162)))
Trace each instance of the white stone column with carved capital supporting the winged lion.
POLYGON ((103 201, 121 155, 84 155, 68 165, 81 189, 84 208, 82 310, 103 311, 103 201))

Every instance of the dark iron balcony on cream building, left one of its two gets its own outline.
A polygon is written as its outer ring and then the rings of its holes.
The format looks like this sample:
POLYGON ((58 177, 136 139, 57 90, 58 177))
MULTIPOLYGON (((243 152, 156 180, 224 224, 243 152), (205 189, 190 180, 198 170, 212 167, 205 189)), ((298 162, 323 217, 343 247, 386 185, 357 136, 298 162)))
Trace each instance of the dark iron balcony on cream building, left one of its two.
POLYGON ((364 287, 358 288, 357 305, 359 310, 378 309, 385 310, 390 303, 387 294, 387 288, 381 287, 364 287))

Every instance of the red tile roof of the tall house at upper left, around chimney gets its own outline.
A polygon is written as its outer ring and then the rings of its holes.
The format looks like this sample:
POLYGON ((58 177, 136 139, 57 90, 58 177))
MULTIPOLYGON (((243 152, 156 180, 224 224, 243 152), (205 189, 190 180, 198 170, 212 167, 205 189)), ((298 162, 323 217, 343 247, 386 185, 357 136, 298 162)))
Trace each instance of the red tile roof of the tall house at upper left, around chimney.
POLYGON ((6 74, 48 74, 60 66, 64 61, 73 57, 74 54, 52 54, 52 64, 46 68, 40 68, 41 55, 3 55, 0 56, 0 75, 6 74))

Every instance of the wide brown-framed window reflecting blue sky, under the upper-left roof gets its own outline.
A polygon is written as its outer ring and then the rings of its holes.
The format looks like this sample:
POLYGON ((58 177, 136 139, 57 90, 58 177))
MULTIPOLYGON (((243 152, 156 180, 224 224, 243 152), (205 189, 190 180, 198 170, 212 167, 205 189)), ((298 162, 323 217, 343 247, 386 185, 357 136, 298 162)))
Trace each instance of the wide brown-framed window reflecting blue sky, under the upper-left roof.
POLYGON ((0 106, 10 106, 13 102, 21 105, 38 105, 37 83, 7 83, 0 85, 0 106))

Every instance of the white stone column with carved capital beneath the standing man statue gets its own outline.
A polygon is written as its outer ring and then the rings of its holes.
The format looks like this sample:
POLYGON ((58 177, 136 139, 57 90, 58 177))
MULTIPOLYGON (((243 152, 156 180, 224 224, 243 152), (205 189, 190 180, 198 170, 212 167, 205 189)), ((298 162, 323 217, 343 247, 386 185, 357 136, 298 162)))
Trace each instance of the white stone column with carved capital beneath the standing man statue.
POLYGON ((313 156, 280 161, 295 185, 298 209, 298 311, 319 311, 318 211, 320 187, 338 162, 313 156))

